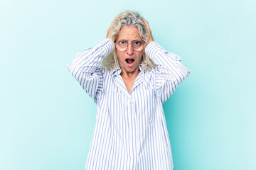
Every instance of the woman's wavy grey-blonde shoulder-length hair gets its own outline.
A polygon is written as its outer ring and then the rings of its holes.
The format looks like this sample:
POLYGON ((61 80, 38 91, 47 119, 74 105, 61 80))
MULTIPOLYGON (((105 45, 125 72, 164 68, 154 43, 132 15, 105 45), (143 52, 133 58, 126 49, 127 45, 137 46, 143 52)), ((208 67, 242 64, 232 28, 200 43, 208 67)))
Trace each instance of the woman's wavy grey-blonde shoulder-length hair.
MULTIPOLYGON (((112 21, 112 27, 110 28, 110 39, 112 40, 112 42, 115 42, 117 40, 119 31, 123 26, 137 27, 139 30, 140 37, 145 42, 141 62, 142 69, 144 69, 145 71, 149 71, 150 69, 155 67, 156 65, 154 64, 154 62, 145 53, 145 47, 149 42, 149 33, 146 29, 144 22, 142 21, 142 16, 140 16, 139 13, 135 11, 125 11, 124 13, 120 13, 118 16, 116 16, 112 21)), ((102 61, 102 67, 108 69, 109 71, 112 71, 113 69, 117 69, 118 66, 119 64, 117 52, 116 47, 114 45, 113 52, 107 57, 105 57, 105 59, 102 61)))

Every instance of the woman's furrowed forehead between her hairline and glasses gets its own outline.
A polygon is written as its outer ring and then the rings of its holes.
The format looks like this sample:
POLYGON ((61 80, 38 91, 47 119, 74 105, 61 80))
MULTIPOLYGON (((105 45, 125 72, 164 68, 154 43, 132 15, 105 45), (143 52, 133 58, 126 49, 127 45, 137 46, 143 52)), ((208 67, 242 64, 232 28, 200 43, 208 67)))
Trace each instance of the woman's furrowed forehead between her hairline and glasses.
POLYGON ((139 30, 135 26, 123 26, 119 30, 117 40, 142 40, 139 35, 139 30))

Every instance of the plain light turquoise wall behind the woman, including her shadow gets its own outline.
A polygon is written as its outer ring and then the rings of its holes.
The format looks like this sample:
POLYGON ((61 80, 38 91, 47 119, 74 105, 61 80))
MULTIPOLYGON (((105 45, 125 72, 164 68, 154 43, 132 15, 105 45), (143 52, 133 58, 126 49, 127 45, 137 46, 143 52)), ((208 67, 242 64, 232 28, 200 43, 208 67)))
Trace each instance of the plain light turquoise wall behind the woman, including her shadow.
POLYGON ((256 1, 0 1, 0 169, 84 169, 96 106, 66 65, 132 9, 191 74, 164 103, 175 170, 256 169, 256 1))

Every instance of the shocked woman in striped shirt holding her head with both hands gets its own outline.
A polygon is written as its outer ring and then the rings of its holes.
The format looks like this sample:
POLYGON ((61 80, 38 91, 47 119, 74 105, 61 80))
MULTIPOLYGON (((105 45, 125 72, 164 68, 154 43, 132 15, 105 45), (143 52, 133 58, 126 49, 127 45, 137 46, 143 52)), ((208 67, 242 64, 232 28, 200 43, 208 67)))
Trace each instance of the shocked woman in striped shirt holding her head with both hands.
POLYGON ((154 42, 137 12, 119 14, 107 37, 68 69, 97 104, 85 169, 173 169, 162 103, 189 74, 154 42))

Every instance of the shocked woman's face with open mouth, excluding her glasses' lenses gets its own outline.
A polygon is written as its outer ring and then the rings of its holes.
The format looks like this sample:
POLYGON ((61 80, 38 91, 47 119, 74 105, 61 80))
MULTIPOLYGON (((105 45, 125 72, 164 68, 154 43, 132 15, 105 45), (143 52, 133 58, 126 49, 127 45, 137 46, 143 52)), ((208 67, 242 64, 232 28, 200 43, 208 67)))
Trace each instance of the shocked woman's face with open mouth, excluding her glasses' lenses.
POLYGON ((127 47, 127 50, 124 51, 120 51, 116 47, 119 66, 122 69, 123 73, 136 73, 137 71, 139 71, 139 64, 142 61, 142 55, 144 52, 144 48, 141 51, 135 51, 132 48, 132 42, 143 42, 140 38, 138 28, 134 26, 123 26, 121 30, 119 30, 116 43, 120 40, 127 41, 129 45, 127 47))

